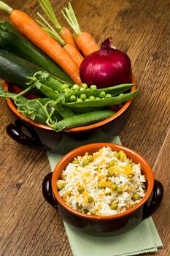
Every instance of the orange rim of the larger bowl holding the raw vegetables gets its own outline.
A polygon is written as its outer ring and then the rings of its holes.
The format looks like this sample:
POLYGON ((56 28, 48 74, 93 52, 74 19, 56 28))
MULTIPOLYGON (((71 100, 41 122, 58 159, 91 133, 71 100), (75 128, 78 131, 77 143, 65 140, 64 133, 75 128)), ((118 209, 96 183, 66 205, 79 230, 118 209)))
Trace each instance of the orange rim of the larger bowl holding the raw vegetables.
MULTIPOLYGON (((131 78, 131 83, 134 83, 134 86, 131 88, 131 91, 135 91, 136 90, 136 84, 135 84, 135 78, 132 75, 131 78)), ((8 86, 9 83, 5 82, 3 89, 4 90, 8 90, 8 86)), ((100 121, 96 124, 90 124, 84 127, 75 127, 75 128, 70 128, 70 129, 64 129, 64 132, 88 132, 90 129, 96 129, 98 127, 101 127, 104 124, 108 124, 110 121, 115 120, 117 117, 119 117, 120 115, 122 115, 125 110, 127 110, 127 108, 129 108, 129 106, 131 105, 131 102, 133 101, 133 99, 129 100, 128 102, 125 103, 125 105, 123 105, 123 107, 117 111, 117 113, 115 113, 113 116, 110 116, 107 119, 104 119, 103 121, 100 121)), ((31 126, 39 128, 39 129, 44 129, 50 132, 54 132, 55 130, 51 127, 48 127, 47 125, 44 124, 38 124, 34 121, 32 121, 31 119, 27 118, 26 116, 23 116, 20 112, 18 112, 17 108, 15 108, 15 105, 12 102, 12 99, 7 99, 7 106, 9 107, 10 110, 12 110, 13 113, 15 113, 16 116, 18 116, 18 118, 22 119, 23 121, 26 121, 28 124, 31 124, 31 126)))

